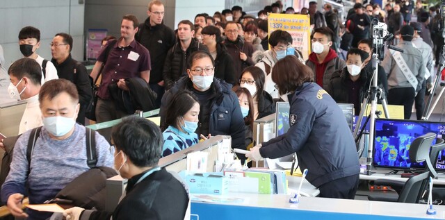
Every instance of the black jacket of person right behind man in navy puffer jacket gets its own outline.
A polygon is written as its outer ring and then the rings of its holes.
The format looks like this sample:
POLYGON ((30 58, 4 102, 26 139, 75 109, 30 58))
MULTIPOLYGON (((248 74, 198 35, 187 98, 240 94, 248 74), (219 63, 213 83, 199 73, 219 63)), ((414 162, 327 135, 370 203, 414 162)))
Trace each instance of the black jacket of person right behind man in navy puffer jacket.
POLYGON ((234 60, 225 46, 216 44, 215 77, 232 85, 236 84, 234 60))

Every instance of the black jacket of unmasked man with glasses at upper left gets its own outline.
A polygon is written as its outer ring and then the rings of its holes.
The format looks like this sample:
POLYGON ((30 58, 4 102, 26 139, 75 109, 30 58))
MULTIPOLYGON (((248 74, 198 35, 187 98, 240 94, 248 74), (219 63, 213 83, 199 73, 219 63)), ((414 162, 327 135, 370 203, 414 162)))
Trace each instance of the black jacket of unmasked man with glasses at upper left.
POLYGON ((85 110, 92 99, 90 75, 86 71, 86 67, 81 62, 71 58, 71 54, 60 65, 54 59, 51 62, 57 69, 58 78, 65 78, 76 85, 77 92, 79 93, 79 103, 81 104, 76 122, 85 124, 85 110))

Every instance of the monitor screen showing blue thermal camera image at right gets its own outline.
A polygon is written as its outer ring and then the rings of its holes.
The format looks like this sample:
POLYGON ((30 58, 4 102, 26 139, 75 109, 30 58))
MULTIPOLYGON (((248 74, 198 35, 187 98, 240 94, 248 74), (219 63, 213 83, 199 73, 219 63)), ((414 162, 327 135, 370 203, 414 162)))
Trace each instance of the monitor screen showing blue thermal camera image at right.
MULTIPOLYGON (((423 168, 423 162, 419 164, 410 161, 409 149, 416 137, 430 132, 442 137, 445 133, 445 124, 432 121, 375 119, 373 165, 392 169, 423 168)), ((435 141, 432 144, 434 143, 435 141)), ((445 167, 444 152, 439 153, 436 164, 436 168, 445 167)))

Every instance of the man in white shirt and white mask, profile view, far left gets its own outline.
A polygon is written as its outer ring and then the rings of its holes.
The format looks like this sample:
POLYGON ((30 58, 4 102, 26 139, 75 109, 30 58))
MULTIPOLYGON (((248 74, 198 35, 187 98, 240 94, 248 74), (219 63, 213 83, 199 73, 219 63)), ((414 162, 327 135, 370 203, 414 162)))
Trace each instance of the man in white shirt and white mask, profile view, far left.
POLYGON ((39 91, 42 69, 31 58, 19 59, 9 67, 10 84, 8 94, 11 99, 26 100, 26 108, 20 121, 19 134, 42 126, 42 112, 39 108, 39 91))

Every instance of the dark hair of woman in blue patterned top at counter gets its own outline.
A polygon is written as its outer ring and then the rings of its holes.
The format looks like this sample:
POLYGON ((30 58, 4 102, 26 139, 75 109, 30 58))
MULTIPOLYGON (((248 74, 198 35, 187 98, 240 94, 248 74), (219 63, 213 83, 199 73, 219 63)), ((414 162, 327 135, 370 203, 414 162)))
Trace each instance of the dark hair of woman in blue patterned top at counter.
POLYGON ((172 97, 172 100, 170 101, 170 103, 168 103, 165 110, 165 124, 163 125, 162 130, 167 129, 168 126, 178 128, 177 124, 179 121, 179 117, 186 115, 186 113, 191 110, 193 105, 199 102, 200 101, 197 99, 195 94, 193 94, 193 92, 190 92, 188 90, 177 92, 172 97))

